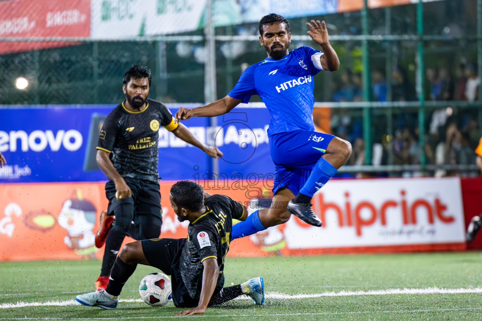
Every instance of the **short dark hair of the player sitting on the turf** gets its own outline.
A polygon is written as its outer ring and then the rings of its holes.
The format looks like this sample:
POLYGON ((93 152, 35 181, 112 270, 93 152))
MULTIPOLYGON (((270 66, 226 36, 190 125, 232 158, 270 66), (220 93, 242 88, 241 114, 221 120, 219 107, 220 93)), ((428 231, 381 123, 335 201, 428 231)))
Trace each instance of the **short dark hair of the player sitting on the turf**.
POLYGON ((171 187, 174 203, 196 212, 204 206, 204 190, 202 186, 192 180, 180 180, 171 187))

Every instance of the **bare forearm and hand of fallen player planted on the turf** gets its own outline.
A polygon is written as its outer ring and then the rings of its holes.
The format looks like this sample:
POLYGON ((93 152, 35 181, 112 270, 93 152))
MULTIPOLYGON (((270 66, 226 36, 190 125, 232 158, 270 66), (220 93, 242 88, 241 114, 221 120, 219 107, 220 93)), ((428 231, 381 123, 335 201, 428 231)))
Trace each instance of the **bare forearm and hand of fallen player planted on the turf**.
POLYGON ((219 267, 217 265, 217 259, 214 257, 206 258, 202 261, 202 266, 204 270, 202 272, 201 295, 197 308, 181 311, 177 313, 177 315, 202 314, 206 311, 209 301, 213 296, 214 289, 216 288, 219 267))

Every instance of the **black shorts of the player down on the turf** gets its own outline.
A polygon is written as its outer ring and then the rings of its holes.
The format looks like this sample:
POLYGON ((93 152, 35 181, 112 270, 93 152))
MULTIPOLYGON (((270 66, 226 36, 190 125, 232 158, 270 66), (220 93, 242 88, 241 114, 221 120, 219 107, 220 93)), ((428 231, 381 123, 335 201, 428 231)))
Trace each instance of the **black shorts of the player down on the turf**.
POLYGON ((199 297, 193 299, 187 292, 181 277, 179 263, 182 249, 187 239, 152 239, 143 240, 142 250, 149 265, 171 276, 174 305, 178 308, 198 306, 199 297))

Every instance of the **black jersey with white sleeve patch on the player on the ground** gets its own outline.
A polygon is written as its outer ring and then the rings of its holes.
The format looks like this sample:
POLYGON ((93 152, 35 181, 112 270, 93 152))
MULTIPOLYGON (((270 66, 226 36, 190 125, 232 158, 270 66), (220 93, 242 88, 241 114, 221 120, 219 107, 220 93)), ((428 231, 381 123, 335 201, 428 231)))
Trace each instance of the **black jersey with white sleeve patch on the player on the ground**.
POLYGON ((219 266, 217 286, 224 284, 224 258, 231 242, 232 218, 239 219, 244 207, 225 195, 213 195, 205 202, 206 213, 187 227, 187 243, 181 254, 182 280, 192 298, 201 294, 202 261, 214 257, 219 266))

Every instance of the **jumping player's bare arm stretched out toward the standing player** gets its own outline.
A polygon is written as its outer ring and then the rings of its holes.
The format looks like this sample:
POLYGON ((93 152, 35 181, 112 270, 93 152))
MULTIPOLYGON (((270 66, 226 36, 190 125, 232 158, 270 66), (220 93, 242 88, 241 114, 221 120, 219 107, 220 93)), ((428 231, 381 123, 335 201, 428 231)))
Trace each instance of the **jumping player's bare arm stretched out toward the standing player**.
POLYGON ((241 99, 235 99, 229 96, 224 97, 218 101, 213 103, 207 104, 202 107, 197 108, 179 108, 176 112, 174 118, 176 122, 179 120, 186 120, 193 116, 197 117, 215 117, 220 116, 228 113, 231 109, 236 107, 239 103, 241 103, 241 99))

